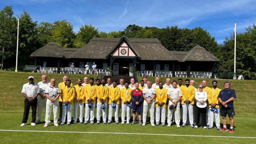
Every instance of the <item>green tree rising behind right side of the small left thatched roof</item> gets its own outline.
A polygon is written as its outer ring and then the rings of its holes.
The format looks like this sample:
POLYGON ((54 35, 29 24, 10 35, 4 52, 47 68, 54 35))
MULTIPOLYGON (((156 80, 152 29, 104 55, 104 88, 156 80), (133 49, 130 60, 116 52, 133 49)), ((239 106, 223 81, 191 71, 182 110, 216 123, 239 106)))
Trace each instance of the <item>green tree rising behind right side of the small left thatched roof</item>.
POLYGON ((74 47, 75 33, 73 25, 66 20, 55 21, 50 29, 51 39, 61 47, 74 47))

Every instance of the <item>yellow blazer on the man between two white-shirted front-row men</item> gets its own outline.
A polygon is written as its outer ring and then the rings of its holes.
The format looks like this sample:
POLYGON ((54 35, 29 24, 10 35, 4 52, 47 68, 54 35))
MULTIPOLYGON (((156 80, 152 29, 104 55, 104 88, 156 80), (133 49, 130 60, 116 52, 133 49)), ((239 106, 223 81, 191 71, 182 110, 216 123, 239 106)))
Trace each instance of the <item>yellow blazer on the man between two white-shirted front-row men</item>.
POLYGON ((164 102, 163 107, 166 107, 166 101, 167 101, 167 89, 162 88, 161 92, 160 92, 160 88, 156 88, 156 98, 155 98, 155 106, 159 107, 159 105, 157 104, 157 102, 164 102))

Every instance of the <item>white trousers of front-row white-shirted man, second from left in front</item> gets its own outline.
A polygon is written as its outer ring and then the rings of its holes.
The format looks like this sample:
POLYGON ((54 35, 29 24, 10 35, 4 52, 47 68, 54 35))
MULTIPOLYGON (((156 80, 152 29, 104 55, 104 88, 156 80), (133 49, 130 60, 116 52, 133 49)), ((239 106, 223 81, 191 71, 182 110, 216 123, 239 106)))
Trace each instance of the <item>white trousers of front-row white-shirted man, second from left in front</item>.
MULTIPOLYGON (((47 98, 46 98, 47 99, 47 98)), ((46 100, 46 110, 45 110, 45 123, 50 123, 50 117, 51 117, 51 111, 53 109, 53 122, 58 122, 58 105, 59 100, 55 101, 54 103, 51 102, 51 100, 46 100)))

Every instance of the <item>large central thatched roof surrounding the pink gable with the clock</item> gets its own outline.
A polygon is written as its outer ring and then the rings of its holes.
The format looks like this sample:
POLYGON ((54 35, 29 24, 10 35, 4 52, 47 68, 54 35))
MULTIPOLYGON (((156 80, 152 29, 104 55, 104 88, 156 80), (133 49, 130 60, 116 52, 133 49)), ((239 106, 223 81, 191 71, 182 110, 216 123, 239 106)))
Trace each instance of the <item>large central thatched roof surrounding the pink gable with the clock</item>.
POLYGON ((135 52, 139 60, 177 60, 176 56, 162 46, 157 38, 129 39, 126 36, 93 38, 83 48, 73 53, 70 58, 108 59, 110 54, 124 41, 135 52))

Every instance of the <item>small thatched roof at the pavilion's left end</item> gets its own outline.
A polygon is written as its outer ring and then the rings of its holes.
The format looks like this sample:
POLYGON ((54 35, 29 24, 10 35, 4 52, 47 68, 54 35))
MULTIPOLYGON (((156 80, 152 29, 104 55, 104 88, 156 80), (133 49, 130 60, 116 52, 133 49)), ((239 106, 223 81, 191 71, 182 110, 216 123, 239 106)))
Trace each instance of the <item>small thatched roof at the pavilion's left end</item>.
POLYGON ((34 51, 30 57, 56 57, 66 58, 66 55, 62 51, 62 48, 55 42, 48 43, 40 49, 34 51))

